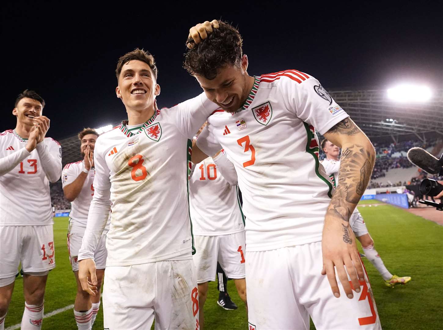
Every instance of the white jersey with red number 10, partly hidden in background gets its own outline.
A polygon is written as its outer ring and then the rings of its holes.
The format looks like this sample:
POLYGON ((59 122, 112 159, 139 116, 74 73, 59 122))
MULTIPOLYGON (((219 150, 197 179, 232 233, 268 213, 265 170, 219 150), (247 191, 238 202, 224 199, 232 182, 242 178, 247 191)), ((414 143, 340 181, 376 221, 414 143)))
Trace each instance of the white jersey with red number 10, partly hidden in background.
POLYGON ((195 165, 189 181, 189 210, 194 235, 228 235, 245 229, 237 189, 223 178, 211 157, 195 165))

